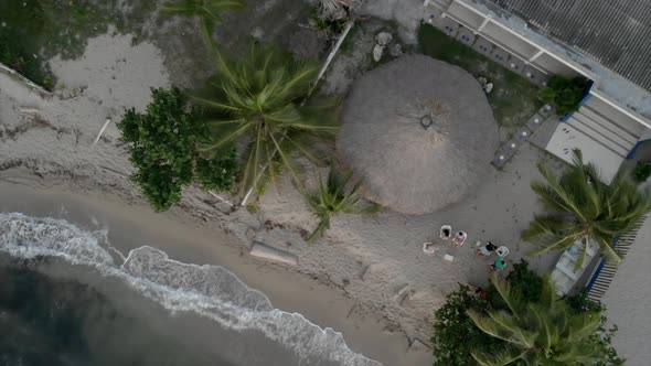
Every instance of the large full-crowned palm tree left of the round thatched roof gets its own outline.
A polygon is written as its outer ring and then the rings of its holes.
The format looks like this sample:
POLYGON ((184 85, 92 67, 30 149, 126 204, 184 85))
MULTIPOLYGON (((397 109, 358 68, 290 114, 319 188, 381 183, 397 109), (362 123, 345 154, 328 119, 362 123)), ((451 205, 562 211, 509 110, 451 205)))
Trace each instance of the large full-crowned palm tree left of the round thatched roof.
POLYGON ((265 182, 260 176, 274 179, 278 166, 287 168, 300 185, 291 153, 321 161, 316 152, 319 140, 337 131, 330 106, 302 104, 318 64, 297 62, 255 43, 243 60, 215 54, 217 75, 206 96, 195 97, 213 114, 207 121, 213 139, 202 150, 218 152, 234 141, 243 142, 243 190, 259 190, 265 182))

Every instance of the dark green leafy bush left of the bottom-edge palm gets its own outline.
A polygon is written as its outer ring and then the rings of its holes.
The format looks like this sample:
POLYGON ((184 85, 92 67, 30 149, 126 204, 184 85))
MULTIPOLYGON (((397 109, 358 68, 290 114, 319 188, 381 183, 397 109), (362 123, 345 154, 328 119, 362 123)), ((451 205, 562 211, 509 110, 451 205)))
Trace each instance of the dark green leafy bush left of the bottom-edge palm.
POLYGON ((459 289, 447 297, 445 305, 434 315, 434 366, 477 365, 470 354, 473 349, 492 352, 500 349, 504 343, 481 332, 468 316, 468 310, 481 311, 490 306, 487 300, 474 297, 470 291, 467 286, 459 284, 459 289))

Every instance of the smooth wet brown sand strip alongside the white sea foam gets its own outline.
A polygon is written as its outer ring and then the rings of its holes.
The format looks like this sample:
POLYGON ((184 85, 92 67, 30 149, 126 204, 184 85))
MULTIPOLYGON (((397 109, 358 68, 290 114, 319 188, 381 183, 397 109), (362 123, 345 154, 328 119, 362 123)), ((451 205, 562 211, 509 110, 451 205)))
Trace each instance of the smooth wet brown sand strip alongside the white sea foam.
MULTIPOLYGON (((376 314, 360 312, 341 289, 286 266, 246 255, 246 245, 210 223, 178 213, 156 214, 147 206, 126 204, 95 193, 9 183, 0 177, 3 212, 65 218, 84 229, 107 228, 109 243, 122 255, 141 246, 166 251, 171 259, 227 269, 249 288, 265 293, 275 308, 299 313, 323 329, 343 334, 348 346, 384 365, 430 365, 428 349, 407 352, 408 340, 388 331, 376 314)), ((420 340, 427 342, 427 340, 420 340)))

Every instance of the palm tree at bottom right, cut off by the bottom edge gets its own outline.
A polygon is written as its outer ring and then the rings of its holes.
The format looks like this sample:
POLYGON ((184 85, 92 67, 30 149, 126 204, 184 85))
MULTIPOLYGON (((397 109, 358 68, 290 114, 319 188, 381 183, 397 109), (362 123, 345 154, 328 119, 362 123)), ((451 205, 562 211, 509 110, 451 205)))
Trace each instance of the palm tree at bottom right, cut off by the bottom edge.
POLYGON ((472 352, 482 366, 503 366, 516 362, 525 365, 595 365, 600 360, 599 347, 590 338, 598 332, 600 314, 575 314, 558 299, 549 277, 543 281, 537 303, 525 303, 522 295, 506 281, 494 276, 491 281, 508 311, 488 311, 488 316, 468 311, 482 332, 506 342, 499 353, 472 352))

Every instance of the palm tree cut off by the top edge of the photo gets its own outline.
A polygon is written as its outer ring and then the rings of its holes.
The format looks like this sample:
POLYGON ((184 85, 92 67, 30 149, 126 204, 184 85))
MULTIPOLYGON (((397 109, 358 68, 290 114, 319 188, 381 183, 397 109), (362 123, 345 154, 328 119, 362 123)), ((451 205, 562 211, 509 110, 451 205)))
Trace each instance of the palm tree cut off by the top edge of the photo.
POLYGON ((245 6, 244 0, 182 0, 163 3, 161 11, 170 15, 199 18, 201 35, 207 45, 212 45, 213 30, 221 20, 221 13, 245 6))

